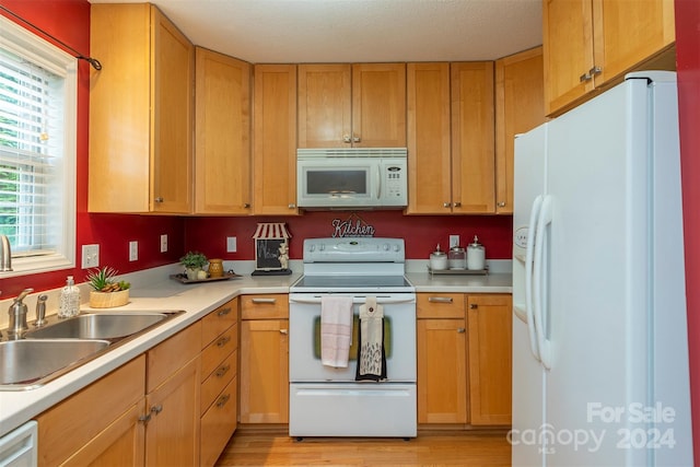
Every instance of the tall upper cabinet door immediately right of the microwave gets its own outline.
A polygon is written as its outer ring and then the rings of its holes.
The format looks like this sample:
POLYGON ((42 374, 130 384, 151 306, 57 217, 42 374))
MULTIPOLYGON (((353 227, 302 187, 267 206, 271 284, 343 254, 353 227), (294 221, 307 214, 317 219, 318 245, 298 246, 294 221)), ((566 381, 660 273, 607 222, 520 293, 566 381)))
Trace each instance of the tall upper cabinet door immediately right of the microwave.
POLYGON ((407 214, 451 212, 450 63, 408 63, 407 214))

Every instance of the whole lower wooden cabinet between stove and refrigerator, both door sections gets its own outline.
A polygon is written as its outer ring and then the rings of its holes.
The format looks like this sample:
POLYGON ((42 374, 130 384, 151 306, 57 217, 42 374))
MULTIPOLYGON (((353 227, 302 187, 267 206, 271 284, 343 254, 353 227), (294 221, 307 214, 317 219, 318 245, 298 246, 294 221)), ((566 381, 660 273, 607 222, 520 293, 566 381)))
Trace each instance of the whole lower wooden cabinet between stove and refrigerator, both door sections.
POLYGON ((511 295, 417 299, 418 422, 510 425, 511 295))

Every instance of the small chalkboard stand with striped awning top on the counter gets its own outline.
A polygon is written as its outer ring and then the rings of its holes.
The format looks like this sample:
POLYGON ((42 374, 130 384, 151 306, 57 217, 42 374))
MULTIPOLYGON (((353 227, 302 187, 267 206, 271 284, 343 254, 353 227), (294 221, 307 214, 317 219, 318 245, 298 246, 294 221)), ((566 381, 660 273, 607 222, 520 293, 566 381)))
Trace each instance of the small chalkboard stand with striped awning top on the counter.
POLYGON ((255 230, 255 271, 253 276, 291 275, 289 238, 292 235, 283 222, 259 223, 255 230))

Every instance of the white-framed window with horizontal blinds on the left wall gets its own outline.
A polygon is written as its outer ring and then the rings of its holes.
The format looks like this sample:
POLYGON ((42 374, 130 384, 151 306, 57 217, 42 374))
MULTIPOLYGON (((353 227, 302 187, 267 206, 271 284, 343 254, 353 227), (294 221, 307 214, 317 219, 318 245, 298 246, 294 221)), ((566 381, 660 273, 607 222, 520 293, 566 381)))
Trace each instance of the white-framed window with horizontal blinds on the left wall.
POLYGON ((20 275, 74 266, 78 60, 0 16, 0 234, 20 275))

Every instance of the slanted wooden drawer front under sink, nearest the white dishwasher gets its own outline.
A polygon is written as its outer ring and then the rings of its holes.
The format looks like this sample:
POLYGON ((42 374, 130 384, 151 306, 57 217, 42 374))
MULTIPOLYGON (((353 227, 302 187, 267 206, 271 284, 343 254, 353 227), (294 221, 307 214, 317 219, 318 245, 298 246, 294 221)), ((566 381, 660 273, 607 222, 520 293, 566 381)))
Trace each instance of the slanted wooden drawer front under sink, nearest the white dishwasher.
POLYGON ((145 359, 137 357, 37 417, 39 465, 66 460, 143 398, 145 359))

